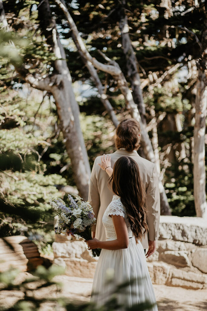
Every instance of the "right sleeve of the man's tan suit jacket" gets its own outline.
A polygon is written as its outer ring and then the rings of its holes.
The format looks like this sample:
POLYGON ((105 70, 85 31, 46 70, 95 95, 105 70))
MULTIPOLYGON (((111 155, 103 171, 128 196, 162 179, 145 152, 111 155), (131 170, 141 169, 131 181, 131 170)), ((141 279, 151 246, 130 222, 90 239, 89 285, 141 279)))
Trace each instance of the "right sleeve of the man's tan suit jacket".
POLYGON ((147 224, 149 227, 148 239, 155 241, 159 237, 159 224, 160 224, 160 191, 159 180, 154 165, 149 186, 146 191, 146 206, 148 209, 147 224))

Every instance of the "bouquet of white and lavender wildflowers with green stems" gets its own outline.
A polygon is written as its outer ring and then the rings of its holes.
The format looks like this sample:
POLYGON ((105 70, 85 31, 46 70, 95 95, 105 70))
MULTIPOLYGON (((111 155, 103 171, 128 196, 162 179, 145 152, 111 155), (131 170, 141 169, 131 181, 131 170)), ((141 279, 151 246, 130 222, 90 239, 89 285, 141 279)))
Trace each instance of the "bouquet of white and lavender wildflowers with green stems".
MULTIPOLYGON (((50 200, 50 204, 58 215, 55 233, 77 234, 85 240, 91 240, 91 226, 96 221, 91 205, 82 201, 82 198, 74 193, 68 195, 68 201, 65 203, 60 198, 50 200)), ((100 252, 100 248, 92 249, 93 257, 99 256, 100 252)))

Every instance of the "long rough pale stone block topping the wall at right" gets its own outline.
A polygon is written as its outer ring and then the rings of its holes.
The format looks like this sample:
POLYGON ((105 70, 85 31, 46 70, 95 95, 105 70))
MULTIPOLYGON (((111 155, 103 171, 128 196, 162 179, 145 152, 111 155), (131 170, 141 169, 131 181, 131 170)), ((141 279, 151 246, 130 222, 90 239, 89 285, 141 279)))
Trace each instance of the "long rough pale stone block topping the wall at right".
POLYGON ((160 239, 207 245, 207 222, 201 217, 160 216, 160 239))

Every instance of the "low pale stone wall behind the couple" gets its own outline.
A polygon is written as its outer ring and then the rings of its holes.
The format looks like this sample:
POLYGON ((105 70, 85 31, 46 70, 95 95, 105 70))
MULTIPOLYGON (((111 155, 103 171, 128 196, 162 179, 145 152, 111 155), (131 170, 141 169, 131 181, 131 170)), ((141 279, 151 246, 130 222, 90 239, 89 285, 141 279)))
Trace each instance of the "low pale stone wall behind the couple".
MULTIPOLYGON (((57 236, 52 245, 54 263, 69 276, 93 277, 98 258, 92 258, 83 240, 57 236)), ((156 252, 147 259, 154 284, 207 288, 207 222, 198 217, 160 217, 156 252)))

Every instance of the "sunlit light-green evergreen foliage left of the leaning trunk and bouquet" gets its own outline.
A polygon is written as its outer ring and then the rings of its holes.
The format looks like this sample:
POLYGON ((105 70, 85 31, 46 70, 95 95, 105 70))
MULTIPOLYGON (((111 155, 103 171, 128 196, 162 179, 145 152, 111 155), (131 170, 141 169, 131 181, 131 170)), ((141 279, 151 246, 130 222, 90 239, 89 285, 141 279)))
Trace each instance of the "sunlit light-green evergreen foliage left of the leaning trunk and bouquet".
MULTIPOLYGON (((2 90, 0 235, 35 235, 38 231, 41 239, 43 224, 45 232, 53 230, 54 213, 48 201, 50 197, 60 196, 56 185, 66 184, 60 174, 46 174, 47 165, 38 152, 48 146, 47 139, 51 136, 54 123, 51 119, 46 129, 45 119, 40 115, 35 125, 33 111, 38 110, 39 103, 31 102, 28 105, 15 91, 9 91, 8 88, 2 90), (42 230, 41 234, 39 230, 42 230)), ((46 106, 44 111, 48 117, 50 103, 46 106)))

